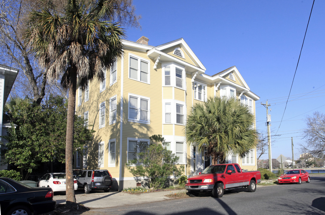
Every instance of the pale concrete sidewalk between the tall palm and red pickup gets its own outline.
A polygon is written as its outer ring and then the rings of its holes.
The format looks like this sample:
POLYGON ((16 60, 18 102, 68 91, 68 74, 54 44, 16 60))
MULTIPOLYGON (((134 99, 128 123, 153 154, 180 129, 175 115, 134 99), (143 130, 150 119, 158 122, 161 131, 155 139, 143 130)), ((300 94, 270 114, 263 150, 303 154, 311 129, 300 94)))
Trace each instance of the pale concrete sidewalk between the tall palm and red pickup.
MULTIPOLYGON (((165 195, 186 192, 186 190, 159 191, 142 194, 129 194, 125 192, 104 193, 101 191, 85 194, 83 192, 83 190, 75 191, 77 203, 83 204, 88 208, 109 208, 173 199, 165 197, 165 195)), ((57 204, 65 204, 65 195, 63 194, 54 194, 53 199, 57 201, 57 204)))

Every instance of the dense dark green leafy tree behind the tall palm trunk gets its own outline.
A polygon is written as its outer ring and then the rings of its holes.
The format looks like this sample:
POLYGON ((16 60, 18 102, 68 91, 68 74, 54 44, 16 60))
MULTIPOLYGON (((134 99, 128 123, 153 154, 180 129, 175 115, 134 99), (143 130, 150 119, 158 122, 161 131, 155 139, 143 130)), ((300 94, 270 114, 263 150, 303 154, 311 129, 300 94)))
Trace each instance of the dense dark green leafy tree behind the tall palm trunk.
MULTIPOLYGON (((2 147, 5 162, 16 166, 25 179, 42 162, 55 159, 64 163, 67 102, 60 96, 50 96, 41 106, 28 98, 15 101, 5 108, 11 121, 3 137, 8 140, 2 147)), ((83 149, 94 133, 84 126, 83 118, 75 118, 74 151, 83 149)))

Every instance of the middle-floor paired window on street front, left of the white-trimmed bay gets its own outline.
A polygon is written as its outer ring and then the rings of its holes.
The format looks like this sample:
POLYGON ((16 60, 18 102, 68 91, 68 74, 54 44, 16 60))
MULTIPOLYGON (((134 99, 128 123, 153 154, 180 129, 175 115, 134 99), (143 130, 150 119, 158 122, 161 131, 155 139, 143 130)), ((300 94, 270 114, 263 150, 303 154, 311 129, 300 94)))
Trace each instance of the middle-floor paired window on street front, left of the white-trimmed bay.
POLYGON ((150 122, 150 99, 139 95, 129 94, 129 116, 131 122, 150 122))

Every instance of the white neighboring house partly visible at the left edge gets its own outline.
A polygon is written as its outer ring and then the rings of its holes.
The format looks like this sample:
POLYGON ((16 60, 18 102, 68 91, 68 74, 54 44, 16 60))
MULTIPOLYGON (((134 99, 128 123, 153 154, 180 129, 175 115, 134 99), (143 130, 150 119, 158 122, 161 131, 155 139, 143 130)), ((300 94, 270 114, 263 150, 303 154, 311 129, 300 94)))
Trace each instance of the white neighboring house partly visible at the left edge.
MULTIPOLYGON (((15 68, 11 68, 9 66, 5 66, 0 64, 0 133, 1 136, 5 136, 7 134, 7 128, 10 127, 10 123, 3 122, 3 107, 6 104, 7 98, 11 91, 12 86, 16 80, 19 70, 15 68)), ((4 144, 7 143, 6 139, 1 139, 4 144)), ((1 162, 1 156, 0 156, 1 162)), ((0 170, 6 170, 7 164, 0 164, 0 170)))

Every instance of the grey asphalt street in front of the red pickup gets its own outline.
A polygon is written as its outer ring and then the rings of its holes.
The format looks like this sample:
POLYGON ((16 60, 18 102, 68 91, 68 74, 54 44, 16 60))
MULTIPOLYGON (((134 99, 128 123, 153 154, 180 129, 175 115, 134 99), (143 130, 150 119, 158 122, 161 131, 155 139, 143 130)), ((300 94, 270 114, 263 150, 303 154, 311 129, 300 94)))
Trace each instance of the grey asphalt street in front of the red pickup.
MULTIPOLYGON (((110 202, 107 202, 110 204, 110 202)), ((325 215, 325 175, 311 175, 311 182, 259 186, 256 192, 245 189, 225 191, 222 198, 209 194, 170 199, 146 204, 92 209, 83 215, 325 215)))

